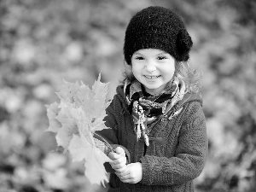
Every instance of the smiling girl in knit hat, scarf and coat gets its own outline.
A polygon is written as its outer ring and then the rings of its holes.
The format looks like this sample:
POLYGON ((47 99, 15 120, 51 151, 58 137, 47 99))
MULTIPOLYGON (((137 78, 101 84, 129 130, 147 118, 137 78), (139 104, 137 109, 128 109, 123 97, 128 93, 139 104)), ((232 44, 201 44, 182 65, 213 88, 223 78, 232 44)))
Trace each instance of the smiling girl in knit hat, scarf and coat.
POLYGON ((115 151, 109 192, 194 191, 207 159, 207 127, 199 75, 189 68, 192 40, 170 9, 148 7, 125 32, 131 73, 107 109, 98 131, 115 151), (117 147, 119 146, 119 147, 117 147))

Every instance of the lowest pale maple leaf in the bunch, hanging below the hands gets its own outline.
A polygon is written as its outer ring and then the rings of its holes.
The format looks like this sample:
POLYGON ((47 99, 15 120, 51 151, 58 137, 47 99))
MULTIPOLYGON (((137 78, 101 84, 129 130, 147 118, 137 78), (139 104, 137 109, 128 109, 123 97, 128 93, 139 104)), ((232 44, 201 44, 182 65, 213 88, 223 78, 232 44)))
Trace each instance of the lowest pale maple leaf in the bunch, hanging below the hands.
POLYGON ((108 174, 103 164, 111 161, 108 156, 95 145, 91 145, 83 136, 73 135, 68 150, 73 161, 84 160, 84 175, 88 177, 90 183, 102 184, 105 187, 105 182, 108 182, 108 174))

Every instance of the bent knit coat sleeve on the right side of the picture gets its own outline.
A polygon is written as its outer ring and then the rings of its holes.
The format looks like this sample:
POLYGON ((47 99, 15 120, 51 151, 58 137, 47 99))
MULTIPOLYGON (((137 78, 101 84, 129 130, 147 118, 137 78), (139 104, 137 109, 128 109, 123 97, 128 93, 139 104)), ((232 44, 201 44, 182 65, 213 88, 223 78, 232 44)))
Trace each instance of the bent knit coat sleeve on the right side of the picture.
POLYGON ((208 150, 206 119, 200 102, 190 102, 185 109, 187 118, 179 131, 174 157, 143 156, 143 179, 140 183, 181 184, 201 174, 208 150))

